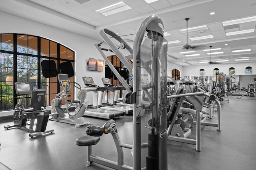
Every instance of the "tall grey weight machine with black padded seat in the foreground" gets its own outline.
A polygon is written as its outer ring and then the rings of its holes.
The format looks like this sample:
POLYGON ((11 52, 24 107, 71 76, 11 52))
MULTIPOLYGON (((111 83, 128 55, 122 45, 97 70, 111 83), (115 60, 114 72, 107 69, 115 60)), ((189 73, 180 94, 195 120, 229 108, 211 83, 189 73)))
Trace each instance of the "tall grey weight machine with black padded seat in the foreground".
POLYGON ((128 43, 107 28, 102 28, 100 36, 110 49, 103 49, 100 44, 95 47, 102 54, 108 66, 124 85, 128 94, 126 103, 134 104, 133 108, 133 145, 122 144, 112 120, 103 127, 88 127, 87 134, 101 136, 111 132, 118 152, 118 161, 110 161, 92 154, 92 145, 99 137, 83 136, 76 140, 78 146, 88 146, 87 165, 92 162, 119 170, 167 170, 167 41, 163 38, 162 20, 152 15, 146 18, 136 34, 133 51, 128 43), (144 38, 144 34, 147 38, 144 38), (108 35, 107 35, 108 34, 108 35), (120 49, 110 40, 114 38, 120 43, 120 49), (133 55, 124 56, 121 51, 126 49, 133 55), (102 50, 113 51, 128 71, 133 73, 132 88, 122 79, 120 74, 109 64, 102 50), (133 65, 129 62, 133 57, 133 65), (150 134, 145 124, 152 122, 150 134), (92 133, 89 133, 89 132, 92 133), (94 133, 95 132, 95 133, 94 133), (122 148, 132 148, 133 167, 124 165, 122 148), (147 151, 144 149, 148 148, 147 151), (143 152, 142 152, 143 150, 143 152), (147 155, 147 156, 146 156, 147 155), (142 161, 143 160, 143 161, 142 161), (142 164, 146 162, 146 165, 142 164))

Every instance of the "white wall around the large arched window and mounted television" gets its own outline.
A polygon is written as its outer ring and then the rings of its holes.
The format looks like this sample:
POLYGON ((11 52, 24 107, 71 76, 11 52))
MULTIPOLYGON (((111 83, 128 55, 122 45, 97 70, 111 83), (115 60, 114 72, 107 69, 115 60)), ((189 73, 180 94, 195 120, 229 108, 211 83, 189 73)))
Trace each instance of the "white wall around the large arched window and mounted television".
MULTIPOLYGON (((87 61, 89 57, 102 59, 102 56, 94 47, 94 44, 100 41, 20 18, 5 12, 0 12, 0 33, 20 33, 40 36, 69 47, 76 52, 75 81, 84 87, 82 77, 90 76, 94 79, 96 84, 100 86, 102 85, 101 77, 105 77, 105 70, 103 70, 103 72, 87 70, 87 61)), ((92 99, 92 94, 88 94, 87 100, 89 99, 92 99)), ((89 104, 92 104, 92 102, 89 104)))

